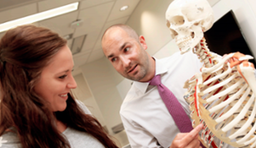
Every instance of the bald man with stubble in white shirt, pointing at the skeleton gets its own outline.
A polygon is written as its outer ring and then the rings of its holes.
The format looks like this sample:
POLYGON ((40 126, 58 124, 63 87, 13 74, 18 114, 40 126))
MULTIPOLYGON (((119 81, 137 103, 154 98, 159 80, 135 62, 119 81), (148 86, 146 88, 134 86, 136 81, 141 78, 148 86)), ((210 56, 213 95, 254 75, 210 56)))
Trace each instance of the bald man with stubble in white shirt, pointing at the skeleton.
POLYGON ((189 116, 189 106, 183 99, 186 92, 183 84, 202 66, 196 55, 175 53, 157 60, 145 51, 147 45, 144 37, 123 24, 108 28, 101 43, 105 56, 117 72, 134 80, 120 110, 131 146, 200 147, 198 132, 202 125, 189 133, 180 133, 157 87, 148 82, 161 74, 161 82, 173 92, 189 116))

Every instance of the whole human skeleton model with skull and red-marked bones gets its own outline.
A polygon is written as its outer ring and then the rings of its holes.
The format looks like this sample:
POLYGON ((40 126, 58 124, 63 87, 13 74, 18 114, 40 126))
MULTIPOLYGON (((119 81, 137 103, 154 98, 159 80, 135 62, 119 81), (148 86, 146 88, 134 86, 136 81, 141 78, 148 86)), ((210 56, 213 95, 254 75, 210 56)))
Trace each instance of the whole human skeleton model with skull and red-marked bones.
POLYGON ((166 11, 167 26, 185 53, 193 50, 204 63, 201 72, 185 82, 193 126, 204 124, 200 140, 206 146, 255 147, 256 80, 252 57, 211 53, 203 32, 214 22, 206 0, 175 0, 166 11))

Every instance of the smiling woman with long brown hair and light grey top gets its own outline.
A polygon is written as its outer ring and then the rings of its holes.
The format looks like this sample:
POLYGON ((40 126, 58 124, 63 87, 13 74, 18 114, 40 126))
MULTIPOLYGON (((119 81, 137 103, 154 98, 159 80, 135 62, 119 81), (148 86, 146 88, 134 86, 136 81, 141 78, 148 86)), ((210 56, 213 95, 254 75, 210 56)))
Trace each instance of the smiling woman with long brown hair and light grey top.
POLYGON ((117 147, 70 90, 72 53, 47 28, 23 25, 0 40, 0 147, 117 147))

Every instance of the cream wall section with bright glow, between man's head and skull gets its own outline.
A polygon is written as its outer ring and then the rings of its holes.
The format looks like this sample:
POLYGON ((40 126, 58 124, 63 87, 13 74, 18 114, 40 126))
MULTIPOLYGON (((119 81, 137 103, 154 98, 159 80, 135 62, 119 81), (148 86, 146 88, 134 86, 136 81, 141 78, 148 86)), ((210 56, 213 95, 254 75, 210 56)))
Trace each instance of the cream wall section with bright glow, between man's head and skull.
POLYGON ((172 38, 166 26, 165 11, 173 0, 141 0, 126 22, 146 40, 151 55, 166 45, 172 38))

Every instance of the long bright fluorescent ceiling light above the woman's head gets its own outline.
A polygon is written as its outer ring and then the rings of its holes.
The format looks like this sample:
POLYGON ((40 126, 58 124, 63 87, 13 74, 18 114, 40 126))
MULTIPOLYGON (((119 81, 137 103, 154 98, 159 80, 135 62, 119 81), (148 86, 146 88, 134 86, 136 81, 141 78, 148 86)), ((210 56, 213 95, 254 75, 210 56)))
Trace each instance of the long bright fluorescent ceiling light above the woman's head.
POLYGON ((47 10, 44 12, 36 13, 36 14, 30 15, 30 16, 26 16, 23 18, 19 18, 19 19, 15 19, 12 21, 2 23, 2 24, 0 24, 0 33, 7 31, 8 29, 16 27, 18 25, 30 24, 33 22, 41 21, 41 20, 48 19, 48 18, 51 18, 54 16, 58 16, 61 14, 75 11, 78 9, 78 4, 79 4, 78 2, 72 3, 72 4, 69 4, 66 6, 54 8, 51 10, 47 10))

